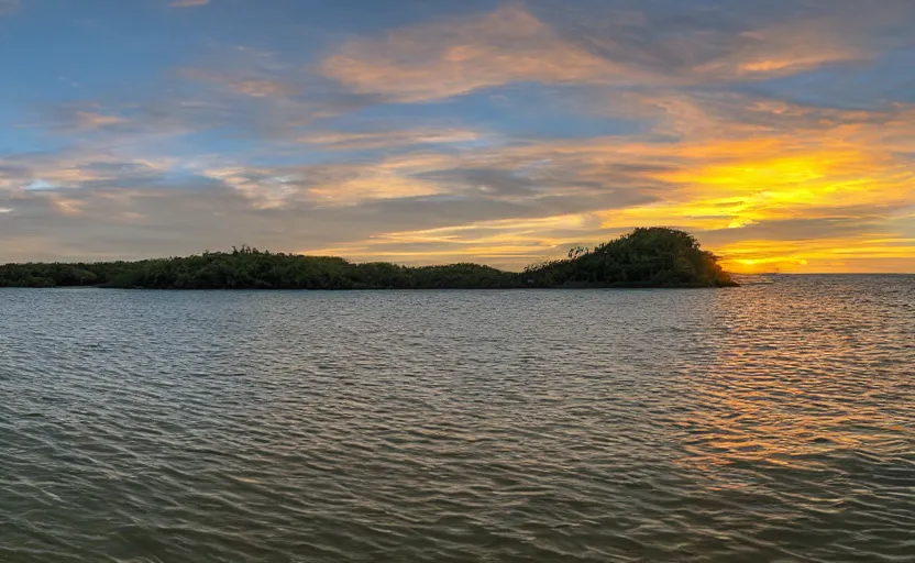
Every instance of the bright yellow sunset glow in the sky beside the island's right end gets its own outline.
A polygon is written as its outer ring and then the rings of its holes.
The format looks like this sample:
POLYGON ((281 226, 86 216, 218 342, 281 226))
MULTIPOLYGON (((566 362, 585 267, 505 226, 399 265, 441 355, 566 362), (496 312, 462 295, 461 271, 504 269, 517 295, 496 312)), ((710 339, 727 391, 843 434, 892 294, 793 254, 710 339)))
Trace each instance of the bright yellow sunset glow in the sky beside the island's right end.
MULTIPOLYGON (((764 150, 761 153, 778 146, 773 140, 759 140, 759 144, 764 150)), ((915 202, 915 172, 869 147, 852 148, 846 142, 825 140, 815 152, 746 158, 750 146, 752 143, 740 142, 707 147, 707 154, 740 157, 658 175, 677 186, 666 201, 605 212, 603 227, 669 224, 692 231, 743 230, 773 221, 853 220, 862 213, 852 211, 867 208, 890 214, 915 202)), ((698 151, 687 153, 695 155, 698 151)), ((760 239, 706 246, 723 257, 726 269, 754 274, 852 271, 849 260, 860 257, 903 263, 915 257, 912 243, 912 238, 881 233, 841 239, 809 233, 787 244, 760 239)))

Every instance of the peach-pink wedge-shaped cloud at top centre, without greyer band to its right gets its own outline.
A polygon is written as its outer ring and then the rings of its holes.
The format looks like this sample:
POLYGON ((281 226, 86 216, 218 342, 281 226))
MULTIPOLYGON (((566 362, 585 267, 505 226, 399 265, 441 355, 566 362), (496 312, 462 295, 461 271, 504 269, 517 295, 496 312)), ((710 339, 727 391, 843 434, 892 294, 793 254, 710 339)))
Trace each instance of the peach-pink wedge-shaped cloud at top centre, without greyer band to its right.
POLYGON ((483 18, 425 24, 355 40, 321 64, 360 93, 419 101, 512 81, 576 82, 622 68, 562 41, 518 5, 483 18))

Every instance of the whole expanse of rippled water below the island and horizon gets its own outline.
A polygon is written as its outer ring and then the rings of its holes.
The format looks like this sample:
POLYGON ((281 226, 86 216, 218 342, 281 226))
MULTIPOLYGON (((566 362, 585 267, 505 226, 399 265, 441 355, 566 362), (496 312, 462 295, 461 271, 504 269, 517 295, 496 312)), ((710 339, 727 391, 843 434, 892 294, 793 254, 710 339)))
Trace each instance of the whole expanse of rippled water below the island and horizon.
POLYGON ((0 561, 915 560, 915 277, 0 290, 0 561))

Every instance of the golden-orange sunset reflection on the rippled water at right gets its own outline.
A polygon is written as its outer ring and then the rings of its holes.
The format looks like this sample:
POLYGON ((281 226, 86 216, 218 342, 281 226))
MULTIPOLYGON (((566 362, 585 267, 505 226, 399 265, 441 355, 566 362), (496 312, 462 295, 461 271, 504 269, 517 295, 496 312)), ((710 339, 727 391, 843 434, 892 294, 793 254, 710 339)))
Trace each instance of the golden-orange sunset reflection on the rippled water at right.
POLYGON ((747 464, 819 471, 871 446, 911 445, 911 426, 882 408, 901 399, 904 367, 875 352, 891 329, 862 312, 856 300, 868 296, 824 286, 775 301, 763 287, 719 296, 730 317, 715 319, 714 361, 675 421, 676 463, 707 476, 747 464))

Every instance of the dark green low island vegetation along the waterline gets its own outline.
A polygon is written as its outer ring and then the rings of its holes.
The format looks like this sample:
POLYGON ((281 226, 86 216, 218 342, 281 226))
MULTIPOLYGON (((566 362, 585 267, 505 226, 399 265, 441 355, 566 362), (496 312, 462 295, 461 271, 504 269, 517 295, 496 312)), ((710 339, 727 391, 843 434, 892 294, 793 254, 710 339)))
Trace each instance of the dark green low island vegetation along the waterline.
POLYGON ((0 287, 150 289, 433 289, 520 287, 725 287, 736 285, 682 231, 636 229, 566 260, 510 273, 476 264, 408 267, 275 254, 242 246, 188 257, 88 264, 8 264, 0 287))

